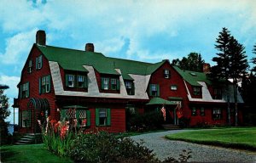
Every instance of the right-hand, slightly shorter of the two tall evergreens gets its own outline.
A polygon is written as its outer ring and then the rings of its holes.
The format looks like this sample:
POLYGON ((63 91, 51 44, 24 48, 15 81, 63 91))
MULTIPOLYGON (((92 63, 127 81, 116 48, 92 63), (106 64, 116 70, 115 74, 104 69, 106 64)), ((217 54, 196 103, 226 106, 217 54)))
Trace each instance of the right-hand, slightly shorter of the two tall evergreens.
POLYGON ((247 55, 242 44, 236 41, 234 37, 230 37, 229 51, 230 54, 230 77, 233 79, 234 99, 235 99, 235 121, 238 125, 238 108, 237 108, 237 80, 242 79, 247 73, 247 55))

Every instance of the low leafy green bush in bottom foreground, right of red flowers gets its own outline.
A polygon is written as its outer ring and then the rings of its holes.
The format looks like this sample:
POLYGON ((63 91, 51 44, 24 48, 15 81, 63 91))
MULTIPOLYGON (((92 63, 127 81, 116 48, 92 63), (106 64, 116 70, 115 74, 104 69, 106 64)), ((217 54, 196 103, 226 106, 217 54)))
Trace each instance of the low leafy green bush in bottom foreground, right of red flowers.
POLYGON ((79 135, 70 155, 76 162, 157 162, 152 152, 131 138, 99 132, 79 135))

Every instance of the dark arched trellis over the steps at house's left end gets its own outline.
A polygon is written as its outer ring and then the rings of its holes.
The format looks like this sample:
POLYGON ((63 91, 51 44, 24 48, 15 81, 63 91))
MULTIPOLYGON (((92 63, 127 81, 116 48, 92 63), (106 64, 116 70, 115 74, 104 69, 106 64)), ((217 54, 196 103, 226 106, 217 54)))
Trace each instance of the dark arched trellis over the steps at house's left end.
POLYGON ((42 132, 38 120, 42 124, 49 115, 49 102, 46 98, 30 98, 27 103, 27 110, 31 113, 31 132, 42 132))

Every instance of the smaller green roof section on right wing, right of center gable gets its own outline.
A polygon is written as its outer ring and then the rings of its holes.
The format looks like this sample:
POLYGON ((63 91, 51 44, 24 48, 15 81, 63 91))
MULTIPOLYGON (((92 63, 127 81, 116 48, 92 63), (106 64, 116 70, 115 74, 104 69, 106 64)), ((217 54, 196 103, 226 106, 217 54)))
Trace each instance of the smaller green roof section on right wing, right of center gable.
POLYGON ((206 82, 207 84, 211 85, 207 79, 207 75, 203 72, 195 72, 191 70, 181 70, 177 66, 173 66, 175 70, 183 77, 186 82, 189 82, 192 86, 201 86, 198 82, 206 82))

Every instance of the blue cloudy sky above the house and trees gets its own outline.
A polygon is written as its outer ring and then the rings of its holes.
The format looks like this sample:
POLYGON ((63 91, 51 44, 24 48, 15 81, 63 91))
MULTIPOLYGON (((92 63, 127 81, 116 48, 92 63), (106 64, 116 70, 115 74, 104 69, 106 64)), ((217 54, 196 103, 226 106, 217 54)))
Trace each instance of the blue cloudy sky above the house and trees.
MULTIPOLYGON (((20 71, 39 29, 46 31, 46 43, 51 46, 83 50, 86 42, 93 42, 96 52, 109 57, 152 63, 181 59, 196 52, 214 65, 215 40, 226 27, 246 47, 248 59, 255 57, 254 0, 0 0, 0 3, 0 83, 10 87, 5 92, 10 104, 18 95, 20 71)), ((13 112, 8 121, 13 121, 13 112)))

